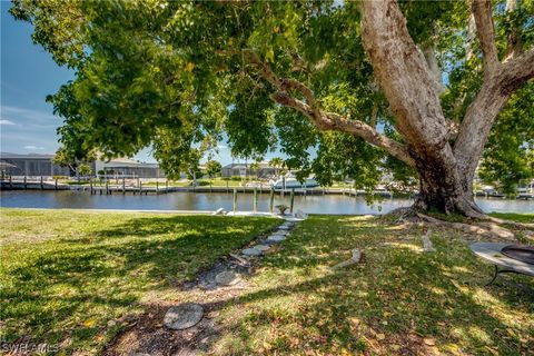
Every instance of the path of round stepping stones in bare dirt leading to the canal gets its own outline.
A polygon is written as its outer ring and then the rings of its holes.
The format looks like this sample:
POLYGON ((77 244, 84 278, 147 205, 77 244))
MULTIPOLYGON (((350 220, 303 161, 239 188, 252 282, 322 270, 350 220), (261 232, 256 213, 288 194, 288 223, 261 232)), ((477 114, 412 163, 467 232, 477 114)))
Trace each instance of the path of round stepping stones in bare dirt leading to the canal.
POLYGON ((102 355, 192 356, 209 353, 210 345, 221 332, 217 323, 219 310, 228 303, 239 303, 255 265, 265 255, 275 253, 275 246, 290 239, 291 229, 303 220, 289 219, 217 261, 196 280, 181 285, 180 300, 176 301, 179 304, 152 304, 150 312, 121 333, 102 355))

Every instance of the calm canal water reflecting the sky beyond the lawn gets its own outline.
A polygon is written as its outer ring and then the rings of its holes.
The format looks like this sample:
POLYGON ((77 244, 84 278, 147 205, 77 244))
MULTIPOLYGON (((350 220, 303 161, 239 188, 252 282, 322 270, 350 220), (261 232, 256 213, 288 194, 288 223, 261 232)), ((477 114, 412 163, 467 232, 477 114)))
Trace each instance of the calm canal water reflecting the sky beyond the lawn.
MULTIPOLYGON (((0 206, 11 208, 72 208, 72 209, 134 209, 134 210, 216 210, 233 209, 233 195, 220 192, 170 192, 164 195, 132 196, 97 195, 80 191, 2 191, 0 206)), ((289 196, 283 200, 275 197, 275 205, 289 205, 289 196)), ((409 206, 409 199, 387 199, 373 206, 366 205, 362 197, 337 195, 296 196, 295 209, 312 214, 383 214, 398 207, 409 206)), ((477 199, 478 206, 486 212, 534 212, 534 201, 477 199)), ((253 210, 253 195, 240 194, 238 210, 253 210)), ((268 211, 269 195, 258 195, 258 210, 268 211)))

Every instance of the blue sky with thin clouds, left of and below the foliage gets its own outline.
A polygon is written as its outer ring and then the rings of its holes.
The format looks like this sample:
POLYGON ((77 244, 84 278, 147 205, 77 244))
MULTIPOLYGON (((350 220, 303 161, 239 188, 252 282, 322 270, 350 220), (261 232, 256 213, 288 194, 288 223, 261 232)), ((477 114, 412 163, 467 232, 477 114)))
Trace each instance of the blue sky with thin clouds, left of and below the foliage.
MULTIPOLYGON (((51 105, 44 101, 70 79, 73 72, 59 67, 50 53, 33 44, 33 28, 28 22, 16 21, 8 10, 10 1, 0 0, 1 6, 1 110, 0 150, 16 154, 53 154, 59 147, 56 129, 62 120, 52 113, 51 105)), ((280 156, 267 155, 266 159, 280 156)), ((150 149, 136 157, 141 161, 155 161, 150 149)), ((226 165, 231 162, 225 142, 214 159, 226 165)))

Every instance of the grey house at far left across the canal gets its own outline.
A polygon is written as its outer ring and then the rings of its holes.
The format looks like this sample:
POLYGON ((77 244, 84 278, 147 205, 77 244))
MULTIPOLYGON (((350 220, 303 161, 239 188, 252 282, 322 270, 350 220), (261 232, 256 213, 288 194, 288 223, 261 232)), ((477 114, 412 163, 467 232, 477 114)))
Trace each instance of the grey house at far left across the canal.
POLYGON ((70 176, 70 169, 55 165, 52 158, 53 155, 0 152, 2 170, 9 176, 70 176))

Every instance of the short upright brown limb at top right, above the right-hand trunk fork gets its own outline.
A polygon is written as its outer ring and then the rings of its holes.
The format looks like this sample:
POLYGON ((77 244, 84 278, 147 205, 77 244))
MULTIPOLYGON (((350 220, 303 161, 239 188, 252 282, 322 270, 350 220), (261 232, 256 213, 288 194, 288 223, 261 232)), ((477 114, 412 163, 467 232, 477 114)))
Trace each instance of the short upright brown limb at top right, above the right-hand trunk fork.
POLYGON ((495 44, 492 1, 473 0, 472 12, 475 18, 478 40, 481 41, 484 75, 490 77, 498 69, 498 66, 501 65, 497 56, 497 47, 495 44))

